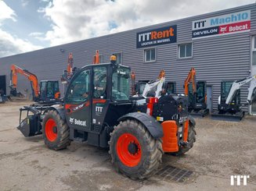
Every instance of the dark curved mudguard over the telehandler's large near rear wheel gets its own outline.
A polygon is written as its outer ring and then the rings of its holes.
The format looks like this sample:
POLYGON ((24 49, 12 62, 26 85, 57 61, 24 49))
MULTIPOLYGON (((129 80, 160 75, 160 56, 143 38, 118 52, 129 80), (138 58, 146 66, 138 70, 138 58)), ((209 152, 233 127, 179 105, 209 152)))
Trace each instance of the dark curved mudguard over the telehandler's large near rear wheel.
POLYGON ((121 116, 121 118, 117 119, 117 122, 124 121, 128 118, 135 118, 136 120, 141 122, 146 127, 146 129, 148 129, 153 138, 158 139, 164 136, 163 128, 160 125, 160 122, 157 122, 157 120, 152 116, 147 115, 146 113, 133 112, 121 116))

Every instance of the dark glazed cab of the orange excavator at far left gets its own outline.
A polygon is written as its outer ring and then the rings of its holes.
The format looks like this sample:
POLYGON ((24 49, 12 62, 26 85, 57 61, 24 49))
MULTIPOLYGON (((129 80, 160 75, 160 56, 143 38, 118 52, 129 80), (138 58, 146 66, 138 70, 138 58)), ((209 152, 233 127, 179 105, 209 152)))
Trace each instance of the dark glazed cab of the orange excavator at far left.
POLYGON ((39 96, 39 102, 52 103, 59 101, 59 81, 42 80, 39 96))

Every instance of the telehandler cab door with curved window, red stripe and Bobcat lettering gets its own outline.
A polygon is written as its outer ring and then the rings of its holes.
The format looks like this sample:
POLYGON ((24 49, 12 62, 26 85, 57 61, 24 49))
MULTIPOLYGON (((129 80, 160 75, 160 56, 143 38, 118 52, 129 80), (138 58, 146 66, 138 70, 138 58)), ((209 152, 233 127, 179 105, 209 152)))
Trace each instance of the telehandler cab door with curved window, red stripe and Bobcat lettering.
POLYGON ((70 82, 65 96, 65 114, 71 128, 89 131, 92 101, 91 68, 82 70, 70 82))

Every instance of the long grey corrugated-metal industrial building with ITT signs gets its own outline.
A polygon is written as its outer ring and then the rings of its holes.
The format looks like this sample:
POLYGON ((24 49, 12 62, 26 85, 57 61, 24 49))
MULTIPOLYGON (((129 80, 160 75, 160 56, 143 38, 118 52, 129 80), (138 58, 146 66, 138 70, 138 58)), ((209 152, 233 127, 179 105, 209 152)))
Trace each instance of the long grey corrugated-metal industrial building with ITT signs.
MULTIPOLYGON (((116 54, 117 62, 135 71, 136 80, 154 80, 164 69, 166 80, 176 82, 177 93, 183 93, 184 80, 194 67, 197 80, 207 81, 208 108, 217 109, 222 80, 256 74, 255 37, 256 4, 243 5, 0 58, 0 89, 9 94, 11 64, 35 73, 38 80, 60 80, 70 52, 74 66, 81 67, 91 64, 99 50, 100 62, 109 62, 116 54)), ((241 103, 247 100, 247 87, 241 89, 241 103)), ((23 76, 18 90, 30 94, 30 83, 23 76)), ((256 114, 256 104, 243 111, 256 114)))

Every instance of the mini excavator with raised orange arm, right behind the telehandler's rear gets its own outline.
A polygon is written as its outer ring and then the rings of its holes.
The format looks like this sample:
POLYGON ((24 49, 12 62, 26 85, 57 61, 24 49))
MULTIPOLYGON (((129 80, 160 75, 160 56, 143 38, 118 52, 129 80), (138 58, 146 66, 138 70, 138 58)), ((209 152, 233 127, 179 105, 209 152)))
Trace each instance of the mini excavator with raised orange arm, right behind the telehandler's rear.
POLYGON ((189 113, 204 117, 209 114, 207 108, 207 86, 205 81, 196 80, 196 69, 191 68, 184 83, 184 94, 189 97, 189 113), (190 86, 192 83, 192 86, 190 86))

